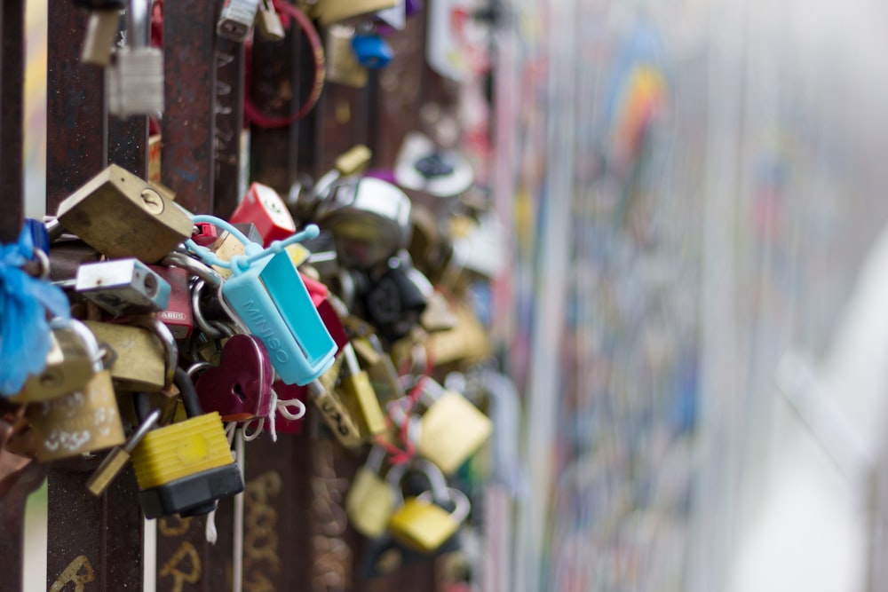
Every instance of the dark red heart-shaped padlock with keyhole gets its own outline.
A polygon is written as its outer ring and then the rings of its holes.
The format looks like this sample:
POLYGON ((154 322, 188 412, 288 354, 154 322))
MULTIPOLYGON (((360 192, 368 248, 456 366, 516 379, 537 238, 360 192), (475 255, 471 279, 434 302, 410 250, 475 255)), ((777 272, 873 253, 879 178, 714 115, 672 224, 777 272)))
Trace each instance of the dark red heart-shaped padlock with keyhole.
POLYGON ((274 372, 266 346, 253 335, 234 335, 222 348, 218 367, 203 371, 195 388, 201 406, 226 422, 267 417, 274 372))

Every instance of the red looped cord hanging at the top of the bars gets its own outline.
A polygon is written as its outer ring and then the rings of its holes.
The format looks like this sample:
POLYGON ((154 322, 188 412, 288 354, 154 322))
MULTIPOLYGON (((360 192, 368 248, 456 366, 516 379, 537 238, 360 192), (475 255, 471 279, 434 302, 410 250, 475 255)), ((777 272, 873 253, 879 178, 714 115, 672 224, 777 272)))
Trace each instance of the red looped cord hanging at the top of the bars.
POLYGON ((250 125, 250 123, 252 123, 260 128, 285 128, 288 125, 299 121, 313 109, 317 104, 318 99, 321 99, 321 91, 324 89, 324 48, 323 45, 321 45, 321 37, 318 36, 317 29, 314 28, 312 21, 309 20, 308 17, 296 6, 282 2, 281 0, 275 0, 274 7, 280 13, 281 23, 285 26, 289 26, 290 18, 297 21, 299 28, 303 30, 305 37, 308 39, 308 43, 312 46, 312 54, 314 58, 314 82, 312 84, 312 91, 308 94, 308 98, 305 99, 305 103, 302 104, 302 107, 299 107, 295 114, 286 117, 273 117, 263 113, 253 100, 250 99, 250 83, 252 76, 249 67, 250 59, 246 59, 246 64, 248 66, 244 68, 246 70, 246 91, 243 93, 243 123, 244 125, 250 125))

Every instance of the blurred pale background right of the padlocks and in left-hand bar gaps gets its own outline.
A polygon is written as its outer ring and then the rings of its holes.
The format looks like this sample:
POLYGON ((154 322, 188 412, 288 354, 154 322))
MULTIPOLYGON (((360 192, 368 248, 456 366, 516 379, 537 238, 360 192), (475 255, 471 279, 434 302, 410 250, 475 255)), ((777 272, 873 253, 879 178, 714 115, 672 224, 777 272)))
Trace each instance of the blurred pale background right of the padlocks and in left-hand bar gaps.
POLYGON ((464 143, 510 254, 491 322, 523 406, 502 589, 888 589, 888 7, 498 6, 495 108, 466 75, 462 117, 493 130, 464 143))

